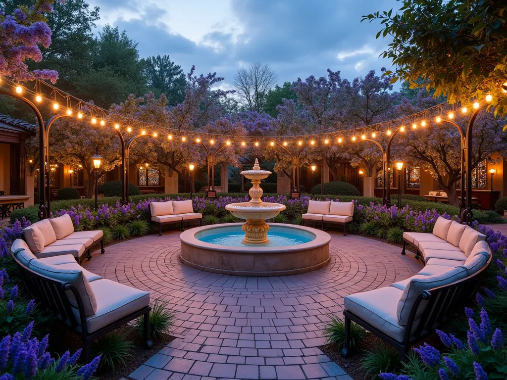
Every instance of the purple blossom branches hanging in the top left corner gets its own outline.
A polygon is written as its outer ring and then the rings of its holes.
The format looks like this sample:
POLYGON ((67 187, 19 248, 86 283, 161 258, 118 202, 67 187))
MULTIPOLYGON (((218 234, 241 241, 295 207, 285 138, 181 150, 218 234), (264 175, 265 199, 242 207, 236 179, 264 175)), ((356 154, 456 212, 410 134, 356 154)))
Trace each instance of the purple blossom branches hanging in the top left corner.
POLYGON ((35 76, 56 83, 58 73, 43 69, 27 71, 27 60, 42 60, 41 46, 51 45, 51 29, 45 14, 53 10, 53 0, 37 0, 34 5, 19 6, 6 15, 0 9, 0 75, 12 75, 19 81, 35 76))

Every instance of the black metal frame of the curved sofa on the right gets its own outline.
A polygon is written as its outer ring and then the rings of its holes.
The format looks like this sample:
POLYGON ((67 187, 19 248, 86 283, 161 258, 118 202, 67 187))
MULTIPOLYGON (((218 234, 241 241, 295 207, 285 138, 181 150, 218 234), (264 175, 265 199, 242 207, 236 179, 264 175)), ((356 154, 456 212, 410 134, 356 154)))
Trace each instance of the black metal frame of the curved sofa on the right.
POLYGON ((403 337, 403 341, 401 342, 380 331, 352 312, 345 310, 343 312, 345 319, 345 344, 341 352, 342 357, 345 358, 349 354, 351 339, 350 323, 355 322, 393 346, 400 352, 401 360, 405 362, 406 355, 413 345, 433 333, 433 331, 438 328, 440 324, 447 321, 454 312, 457 310, 463 310, 466 302, 468 302, 475 293, 479 276, 488 268, 491 260, 492 255, 489 256, 489 260, 486 265, 470 277, 456 281, 449 285, 421 292, 417 296, 414 305, 410 310, 408 323, 405 326, 405 335, 403 337), (417 318, 419 320, 419 325, 415 331, 412 331, 412 327, 416 320, 417 310, 422 301, 427 302, 427 305, 421 316, 417 318))

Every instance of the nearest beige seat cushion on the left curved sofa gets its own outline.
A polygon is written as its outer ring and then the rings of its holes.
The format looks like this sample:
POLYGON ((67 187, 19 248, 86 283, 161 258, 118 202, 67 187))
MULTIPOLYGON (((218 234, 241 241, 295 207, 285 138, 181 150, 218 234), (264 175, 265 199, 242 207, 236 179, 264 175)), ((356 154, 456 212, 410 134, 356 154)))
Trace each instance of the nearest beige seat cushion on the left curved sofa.
MULTIPOLYGON (((86 318, 88 332, 93 332, 150 305, 150 293, 115 281, 102 279, 90 283, 96 294, 97 311, 86 318)), ((76 319, 79 321, 77 311, 76 319)))

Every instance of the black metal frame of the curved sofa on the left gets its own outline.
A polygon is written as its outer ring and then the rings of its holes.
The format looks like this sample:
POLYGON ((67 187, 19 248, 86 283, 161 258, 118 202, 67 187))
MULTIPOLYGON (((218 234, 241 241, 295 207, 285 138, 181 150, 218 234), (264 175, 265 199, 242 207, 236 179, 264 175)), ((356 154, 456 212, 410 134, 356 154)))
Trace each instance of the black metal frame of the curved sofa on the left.
POLYGON ((147 349, 153 347, 150 333, 150 311, 151 306, 146 306, 139 309, 113 323, 99 328, 93 332, 88 332, 86 326, 86 315, 83 306, 81 295, 74 285, 69 282, 62 282, 43 276, 26 268, 14 255, 12 255, 16 264, 19 267, 23 284, 25 285, 28 293, 42 303, 47 309, 53 312, 56 319, 61 321, 65 327, 74 331, 81 337, 83 341, 83 355, 84 363, 90 361, 90 350, 94 339, 113 331, 131 320, 144 316, 144 346, 147 349), (68 300, 66 291, 73 292, 76 297, 77 307, 73 306, 68 300), (73 313, 73 308, 79 311, 79 322, 73 313))

